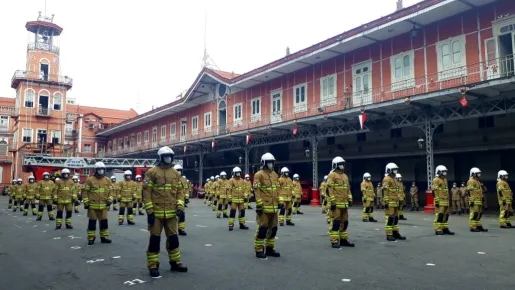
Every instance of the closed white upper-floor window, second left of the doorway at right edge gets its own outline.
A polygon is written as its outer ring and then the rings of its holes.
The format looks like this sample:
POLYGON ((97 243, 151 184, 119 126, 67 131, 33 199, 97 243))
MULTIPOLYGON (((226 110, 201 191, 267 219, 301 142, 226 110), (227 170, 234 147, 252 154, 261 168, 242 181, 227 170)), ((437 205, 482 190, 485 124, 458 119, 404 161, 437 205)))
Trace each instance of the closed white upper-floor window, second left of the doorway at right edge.
POLYGON ((392 76, 391 91, 399 91, 415 86, 415 52, 413 50, 401 52, 390 57, 390 68, 392 76), (408 59, 409 66, 406 69, 404 60, 408 59), (400 77, 397 77, 397 60, 400 60, 400 77))

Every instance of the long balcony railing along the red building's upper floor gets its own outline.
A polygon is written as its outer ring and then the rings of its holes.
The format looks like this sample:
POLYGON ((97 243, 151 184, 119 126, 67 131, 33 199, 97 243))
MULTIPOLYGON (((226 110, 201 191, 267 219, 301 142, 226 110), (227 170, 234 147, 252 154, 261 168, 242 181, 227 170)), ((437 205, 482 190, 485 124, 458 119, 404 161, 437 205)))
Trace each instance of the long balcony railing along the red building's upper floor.
POLYGON ((121 148, 106 152, 106 156, 114 156, 130 152, 154 149, 164 145, 194 142, 199 139, 211 139, 217 135, 234 132, 244 132, 250 129, 267 128, 272 124, 285 121, 299 120, 306 117, 325 116, 328 113, 343 111, 351 108, 360 108, 366 105, 388 102, 396 99, 405 99, 444 89, 471 86, 485 81, 515 76, 515 63, 513 56, 492 59, 468 66, 456 67, 442 72, 406 79, 390 85, 371 88, 366 91, 352 92, 346 88, 345 93, 336 98, 325 99, 317 103, 302 104, 301 106, 283 109, 280 113, 261 114, 250 116, 247 119, 234 120, 224 126, 211 127, 206 130, 199 129, 192 134, 188 131, 185 136, 162 140, 157 146, 151 143, 136 144, 134 147, 121 148))

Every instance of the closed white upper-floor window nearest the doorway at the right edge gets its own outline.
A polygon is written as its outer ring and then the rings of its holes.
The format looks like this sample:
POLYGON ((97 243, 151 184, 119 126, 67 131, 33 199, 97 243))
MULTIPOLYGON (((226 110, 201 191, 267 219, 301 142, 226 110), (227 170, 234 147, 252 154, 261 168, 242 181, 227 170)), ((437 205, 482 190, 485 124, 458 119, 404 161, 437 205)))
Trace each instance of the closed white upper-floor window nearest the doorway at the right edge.
POLYGON ((458 77, 463 77, 467 75, 467 50, 466 50, 466 37, 464 34, 450 37, 445 40, 441 40, 436 43, 436 57, 437 57, 437 67, 438 67, 438 80, 449 80, 458 77), (454 55, 454 45, 456 42, 459 42, 460 49, 460 61, 457 62, 455 60, 454 55), (444 45, 448 45, 449 47, 449 65, 443 64, 443 51, 442 48, 444 45))

